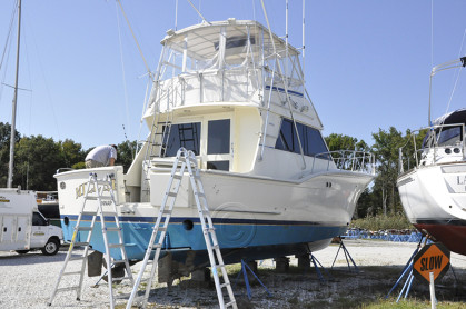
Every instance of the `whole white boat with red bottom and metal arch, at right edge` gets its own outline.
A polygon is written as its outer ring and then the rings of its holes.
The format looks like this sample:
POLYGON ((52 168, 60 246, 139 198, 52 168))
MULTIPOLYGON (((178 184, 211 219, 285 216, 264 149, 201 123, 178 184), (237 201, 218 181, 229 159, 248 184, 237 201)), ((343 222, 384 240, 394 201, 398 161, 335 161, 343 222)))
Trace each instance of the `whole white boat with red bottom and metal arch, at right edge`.
MULTIPOLYGON (((434 67, 430 93, 435 73, 465 67, 466 57, 434 67)), ((423 235, 466 255, 466 108, 432 121, 430 98, 429 126, 414 131, 413 141, 399 149, 399 197, 409 221, 423 235), (417 149, 419 134, 424 140, 417 149)))

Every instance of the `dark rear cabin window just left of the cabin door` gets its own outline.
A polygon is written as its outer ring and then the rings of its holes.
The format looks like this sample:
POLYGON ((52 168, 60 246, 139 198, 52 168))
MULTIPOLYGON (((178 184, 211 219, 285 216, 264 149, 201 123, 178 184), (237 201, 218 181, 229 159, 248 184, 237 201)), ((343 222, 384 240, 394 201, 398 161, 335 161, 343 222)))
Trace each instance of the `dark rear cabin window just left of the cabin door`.
POLYGON ((200 153, 200 122, 163 126, 163 132, 168 130, 165 157, 177 156, 178 150, 184 147, 187 150, 192 150, 196 156, 200 153))

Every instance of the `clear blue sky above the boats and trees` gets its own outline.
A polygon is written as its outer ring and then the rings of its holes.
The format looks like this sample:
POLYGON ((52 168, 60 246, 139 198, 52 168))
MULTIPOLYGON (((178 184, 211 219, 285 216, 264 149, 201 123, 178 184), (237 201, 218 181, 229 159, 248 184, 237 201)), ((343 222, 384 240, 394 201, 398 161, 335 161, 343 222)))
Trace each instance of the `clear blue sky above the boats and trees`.
MULTIPOLYGON (((191 2, 208 21, 266 24, 259 0, 191 2)), ((265 2, 272 31, 285 36, 285 0, 265 2)), ((9 123, 16 21, 13 38, 6 42, 16 3, 0 1, 0 52, 6 51, 0 121, 9 123)), ((201 22, 187 0, 121 4, 151 71, 168 29, 201 22)), ((346 134, 371 144, 379 130, 427 126, 433 66, 466 56, 465 12, 464 0, 307 0, 305 77, 324 136, 346 134)), ((300 48, 303 1, 289 0, 288 29, 289 42, 300 48)), ((434 78, 433 118, 466 107, 464 74, 450 70, 434 78)), ((142 140, 147 84, 145 61, 116 0, 22 0, 17 110, 22 136, 72 139, 85 150, 142 140)))

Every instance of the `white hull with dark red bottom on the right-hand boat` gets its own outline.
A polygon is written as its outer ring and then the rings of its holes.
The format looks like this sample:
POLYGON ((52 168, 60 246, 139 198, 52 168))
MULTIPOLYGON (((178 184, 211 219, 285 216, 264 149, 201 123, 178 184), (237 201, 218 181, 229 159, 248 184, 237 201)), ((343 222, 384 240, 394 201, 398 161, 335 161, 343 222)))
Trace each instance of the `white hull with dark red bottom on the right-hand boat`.
POLYGON ((409 221, 449 250, 466 255, 466 165, 436 165, 398 178, 398 191, 409 221))

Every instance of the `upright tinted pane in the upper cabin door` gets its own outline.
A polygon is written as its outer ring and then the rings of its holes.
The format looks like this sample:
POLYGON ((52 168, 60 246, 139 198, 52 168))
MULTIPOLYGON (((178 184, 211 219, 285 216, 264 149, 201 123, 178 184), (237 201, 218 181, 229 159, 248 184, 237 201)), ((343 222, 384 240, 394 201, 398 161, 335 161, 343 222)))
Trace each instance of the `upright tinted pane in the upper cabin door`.
POLYGON ((207 154, 230 153, 230 120, 208 122, 207 154))

